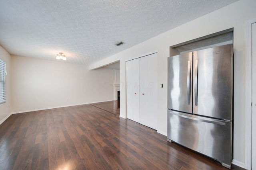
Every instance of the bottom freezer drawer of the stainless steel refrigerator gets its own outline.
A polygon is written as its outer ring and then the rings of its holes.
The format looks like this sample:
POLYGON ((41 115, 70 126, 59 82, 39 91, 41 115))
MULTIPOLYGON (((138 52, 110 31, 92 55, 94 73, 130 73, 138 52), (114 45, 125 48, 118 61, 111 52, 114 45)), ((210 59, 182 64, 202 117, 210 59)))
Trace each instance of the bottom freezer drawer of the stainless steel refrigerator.
POLYGON ((168 110, 168 139, 231 168, 232 122, 168 110))

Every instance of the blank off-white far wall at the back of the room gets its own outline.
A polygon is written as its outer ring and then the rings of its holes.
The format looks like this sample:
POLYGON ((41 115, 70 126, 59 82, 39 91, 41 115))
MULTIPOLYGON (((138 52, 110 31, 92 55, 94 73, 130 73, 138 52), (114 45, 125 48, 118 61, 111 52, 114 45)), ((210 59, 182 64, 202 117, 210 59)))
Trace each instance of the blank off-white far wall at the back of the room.
POLYGON ((62 61, 11 58, 12 112, 113 100, 112 69, 88 70, 88 66, 62 61))

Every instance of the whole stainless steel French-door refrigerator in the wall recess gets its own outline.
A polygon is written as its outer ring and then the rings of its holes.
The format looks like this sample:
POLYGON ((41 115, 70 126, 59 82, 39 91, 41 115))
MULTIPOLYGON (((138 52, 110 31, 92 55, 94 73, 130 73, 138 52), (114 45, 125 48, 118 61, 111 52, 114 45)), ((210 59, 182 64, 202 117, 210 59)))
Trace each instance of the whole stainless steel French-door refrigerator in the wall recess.
POLYGON ((168 141, 231 168, 232 44, 168 57, 168 141))

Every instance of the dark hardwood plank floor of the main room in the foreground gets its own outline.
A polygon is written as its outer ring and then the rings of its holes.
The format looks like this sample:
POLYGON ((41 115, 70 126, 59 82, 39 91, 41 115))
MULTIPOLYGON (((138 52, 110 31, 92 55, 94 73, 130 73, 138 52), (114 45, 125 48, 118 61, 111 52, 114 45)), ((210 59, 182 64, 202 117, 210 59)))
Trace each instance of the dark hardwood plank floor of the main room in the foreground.
POLYGON ((99 105, 11 115, 0 125, 0 170, 227 170, 99 105))

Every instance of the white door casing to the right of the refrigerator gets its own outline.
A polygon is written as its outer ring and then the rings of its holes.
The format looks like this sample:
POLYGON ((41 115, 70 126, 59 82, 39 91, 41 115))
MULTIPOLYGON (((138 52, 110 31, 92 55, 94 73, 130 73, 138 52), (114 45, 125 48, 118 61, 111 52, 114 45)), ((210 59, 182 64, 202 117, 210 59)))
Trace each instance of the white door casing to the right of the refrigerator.
POLYGON ((256 18, 246 22, 245 42, 245 158, 244 168, 252 168, 252 23, 256 18))

